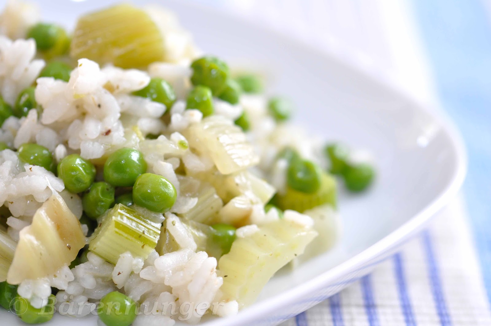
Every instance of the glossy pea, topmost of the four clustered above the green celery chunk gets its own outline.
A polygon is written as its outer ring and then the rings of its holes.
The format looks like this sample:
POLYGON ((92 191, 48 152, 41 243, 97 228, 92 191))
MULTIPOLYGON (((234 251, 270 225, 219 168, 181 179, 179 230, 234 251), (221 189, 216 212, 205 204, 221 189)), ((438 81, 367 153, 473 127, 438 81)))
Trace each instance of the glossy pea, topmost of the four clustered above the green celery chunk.
POLYGON ((113 186, 132 187, 136 178, 146 170, 147 163, 140 151, 120 148, 104 163, 104 180, 113 186))

